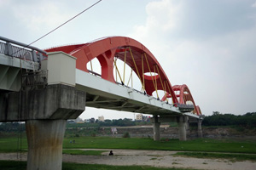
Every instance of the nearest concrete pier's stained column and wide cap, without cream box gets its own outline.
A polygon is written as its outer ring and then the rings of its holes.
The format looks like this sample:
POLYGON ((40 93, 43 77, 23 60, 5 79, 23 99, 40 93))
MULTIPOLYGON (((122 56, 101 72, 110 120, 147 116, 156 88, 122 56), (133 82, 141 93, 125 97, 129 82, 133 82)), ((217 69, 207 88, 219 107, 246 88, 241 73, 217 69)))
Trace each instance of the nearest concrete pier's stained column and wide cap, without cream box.
POLYGON ((0 115, 1 122, 26 122, 26 169, 61 170, 66 122, 84 111, 86 94, 71 86, 54 84, 22 91, 21 99, 20 93, 14 92, 1 100, 0 113, 5 113, 0 115))

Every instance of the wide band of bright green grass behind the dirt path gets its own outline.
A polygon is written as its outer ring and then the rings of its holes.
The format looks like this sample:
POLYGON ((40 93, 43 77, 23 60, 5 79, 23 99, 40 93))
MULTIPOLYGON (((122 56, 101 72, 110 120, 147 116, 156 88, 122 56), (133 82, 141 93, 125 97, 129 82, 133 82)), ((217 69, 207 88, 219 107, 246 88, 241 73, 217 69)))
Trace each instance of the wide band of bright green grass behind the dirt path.
MULTIPOLYGON (((17 138, 0 139, 0 152, 15 152, 20 144, 17 138)), ((26 139, 22 140, 22 150, 27 150, 26 139)), ((109 137, 79 137, 64 139, 63 149, 125 149, 125 150, 183 150, 256 154, 256 143, 251 141, 237 142, 217 139, 193 139, 179 141, 178 139, 154 141, 153 139, 109 138, 109 137), (75 140, 75 143, 70 141, 75 140)))

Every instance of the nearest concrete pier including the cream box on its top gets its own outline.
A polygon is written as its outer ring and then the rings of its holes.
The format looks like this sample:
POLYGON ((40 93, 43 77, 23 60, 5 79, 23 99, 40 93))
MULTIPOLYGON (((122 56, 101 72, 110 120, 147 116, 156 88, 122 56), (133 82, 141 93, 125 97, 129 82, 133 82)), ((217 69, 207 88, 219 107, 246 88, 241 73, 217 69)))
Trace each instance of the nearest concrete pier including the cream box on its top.
POLYGON ((84 111, 86 93, 75 88, 73 56, 48 54, 41 67, 48 74, 27 75, 20 92, 0 95, 0 122, 26 122, 27 170, 61 170, 66 122, 84 111))

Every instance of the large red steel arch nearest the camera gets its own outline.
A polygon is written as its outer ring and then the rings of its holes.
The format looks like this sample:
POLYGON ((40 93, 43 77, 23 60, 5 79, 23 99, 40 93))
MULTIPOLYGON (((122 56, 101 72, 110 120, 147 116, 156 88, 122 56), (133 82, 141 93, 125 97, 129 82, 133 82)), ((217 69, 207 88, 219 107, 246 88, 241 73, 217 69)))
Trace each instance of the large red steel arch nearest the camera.
MULTIPOLYGON (((77 69, 85 72, 89 72, 86 67, 87 63, 90 62, 90 60, 97 58, 102 66, 102 78, 110 82, 115 82, 113 78, 113 59, 114 57, 118 57, 118 59, 125 60, 125 63, 137 74, 137 77, 139 77, 141 82, 144 82, 144 88, 147 94, 152 95, 156 89, 164 90, 168 94, 167 98, 172 98, 173 104, 185 104, 183 103, 183 100, 177 100, 171 82, 154 55, 148 48, 143 46, 142 43, 137 42, 132 38, 105 37, 94 42, 49 48, 45 51, 63 51, 73 55, 77 58, 77 69), (145 73, 148 72, 154 72, 156 73, 156 76, 151 77, 148 76, 148 74, 146 75, 145 73)), ((174 86, 175 89, 177 89, 177 87, 179 86, 174 86)), ((180 89, 188 90, 189 88, 183 88, 182 85, 180 89)), ((190 96, 192 98, 191 94, 190 96)), ((162 100, 166 100, 166 97, 164 96, 162 100)), ((197 111, 196 113, 199 114, 197 111)))

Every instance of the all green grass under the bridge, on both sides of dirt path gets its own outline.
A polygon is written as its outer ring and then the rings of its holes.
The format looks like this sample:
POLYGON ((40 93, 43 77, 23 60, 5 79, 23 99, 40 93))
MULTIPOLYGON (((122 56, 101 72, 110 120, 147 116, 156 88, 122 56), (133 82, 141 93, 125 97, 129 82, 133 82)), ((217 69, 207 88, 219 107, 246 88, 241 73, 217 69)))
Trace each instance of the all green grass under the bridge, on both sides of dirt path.
MULTIPOLYGON (((27 150, 26 137, 21 139, 21 148, 27 150)), ((20 148, 18 138, 1 137, 0 152, 16 152, 20 148)), ((153 139, 137 138, 109 138, 109 137, 79 137, 65 138, 63 141, 63 153, 71 155, 94 155, 99 156, 103 150, 76 150, 76 149, 125 149, 125 150, 179 150, 192 152, 179 152, 176 156, 189 156, 197 158, 221 158, 230 161, 256 161, 256 143, 253 141, 239 142, 231 140, 217 139, 193 139, 179 141, 178 139, 164 139, 154 141, 153 139), (73 140, 75 142, 73 143, 73 140), (70 142, 72 141, 72 143, 70 142), (75 149, 75 150, 66 150, 75 149), (206 153, 207 152, 207 153, 206 153), (219 153, 214 153, 219 152, 219 153), (220 153, 220 152, 230 152, 220 153), (238 154, 235 154, 238 153, 238 154), (244 153, 244 154, 241 154, 244 153)), ((15 170, 26 169, 25 161, 0 161, 0 169, 15 170), (20 168, 21 167, 21 168, 20 168)), ((123 170, 181 170, 180 168, 160 168, 144 166, 107 166, 107 165, 88 165, 63 162, 63 168, 67 170, 79 169, 123 169, 123 170)))

